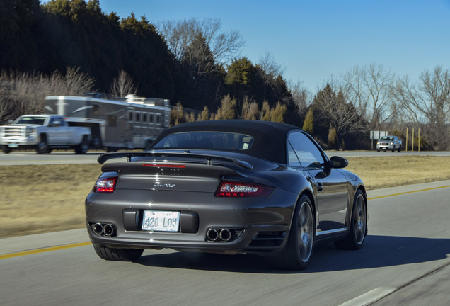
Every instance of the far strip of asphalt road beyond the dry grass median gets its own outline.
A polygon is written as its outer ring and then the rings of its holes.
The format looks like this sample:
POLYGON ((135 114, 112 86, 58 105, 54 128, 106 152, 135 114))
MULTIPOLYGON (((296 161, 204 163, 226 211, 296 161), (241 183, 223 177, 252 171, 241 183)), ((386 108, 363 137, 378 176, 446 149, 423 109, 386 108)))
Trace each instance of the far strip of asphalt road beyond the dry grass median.
MULTIPOLYGON (((450 156, 450 152, 376 152, 376 151, 325 151, 328 157, 338 155, 342 157, 377 157, 377 156, 410 156, 431 155, 450 156)), ((0 153, 0 166, 25 164, 91 164, 96 163, 100 154, 105 152, 93 151, 87 154, 74 154, 74 152, 52 152, 51 154, 36 154, 35 152, 0 153)))

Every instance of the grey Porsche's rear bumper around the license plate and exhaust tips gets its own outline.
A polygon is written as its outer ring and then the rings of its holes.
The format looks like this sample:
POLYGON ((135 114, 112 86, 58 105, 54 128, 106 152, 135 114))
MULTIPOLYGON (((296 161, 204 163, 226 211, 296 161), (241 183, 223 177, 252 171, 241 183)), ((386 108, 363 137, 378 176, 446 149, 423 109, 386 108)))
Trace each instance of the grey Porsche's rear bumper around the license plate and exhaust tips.
POLYGON ((215 198, 214 193, 141 190, 116 191, 114 195, 91 193, 86 198, 86 227, 93 244, 221 254, 274 254, 284 248, 298 197, 279 189, 270 198, 215 198), (144 210, 179 211, 180 230, 142 230, 144 210), (114 225, 115 234, 96 234, 92 227, 96 222, 114 225), (207 238, 209 229, 228 229, 231 239, 212 241, 207 238))

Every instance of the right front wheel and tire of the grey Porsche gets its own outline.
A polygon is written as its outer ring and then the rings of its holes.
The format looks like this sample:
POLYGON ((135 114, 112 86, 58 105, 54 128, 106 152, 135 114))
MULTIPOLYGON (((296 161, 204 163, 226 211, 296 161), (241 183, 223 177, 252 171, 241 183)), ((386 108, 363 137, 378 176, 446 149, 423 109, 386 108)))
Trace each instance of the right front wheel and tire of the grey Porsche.
POLYGON ((347 238, 335 242, 337 249, 361 249, 367 235, 367 203, 361 189, 354 195, 352 223, 347 238))

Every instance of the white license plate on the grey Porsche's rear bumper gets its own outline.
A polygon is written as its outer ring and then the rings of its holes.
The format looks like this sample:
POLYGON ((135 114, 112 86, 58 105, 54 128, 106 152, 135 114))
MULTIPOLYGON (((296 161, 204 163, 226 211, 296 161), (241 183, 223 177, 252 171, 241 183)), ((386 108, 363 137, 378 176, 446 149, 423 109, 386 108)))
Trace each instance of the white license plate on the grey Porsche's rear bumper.
POLYGON ((142 230, 178 232, 180 212, 144 210, 142 230))

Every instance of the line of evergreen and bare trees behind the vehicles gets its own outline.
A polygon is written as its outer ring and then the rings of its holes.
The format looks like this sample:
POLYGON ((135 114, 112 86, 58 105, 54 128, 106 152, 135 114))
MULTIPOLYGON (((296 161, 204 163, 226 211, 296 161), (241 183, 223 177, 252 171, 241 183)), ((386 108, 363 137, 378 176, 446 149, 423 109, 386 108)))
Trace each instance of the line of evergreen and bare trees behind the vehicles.
POLYGON ((370 130, 404 137, 408 126, 421 128, 421 149, 450 149, 450 74, 440 66, 416 83, 383 65, 353 67, 311 93, 270 53, 241 56, 243 38, 219 19, 121 19, 98 0, 1 1, 0 40, 0 124, 43 111, 45 96, 98 91, 168 98, 173 125, 279 121, 328 149, 370 149, 370 130))

